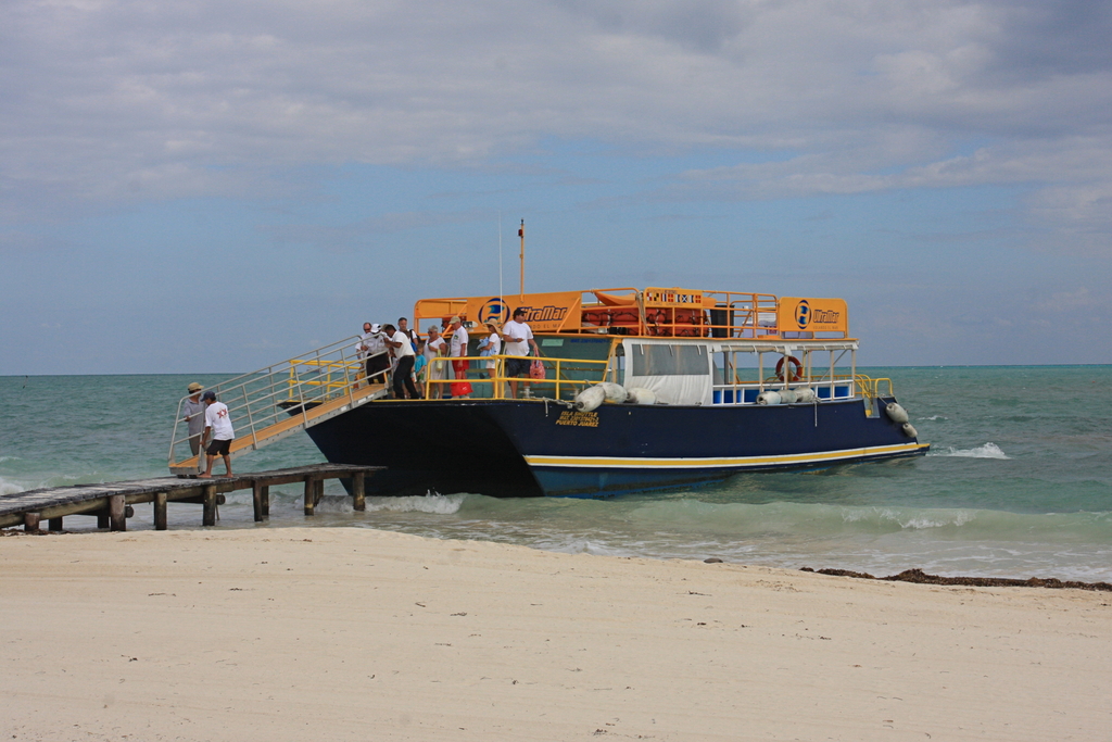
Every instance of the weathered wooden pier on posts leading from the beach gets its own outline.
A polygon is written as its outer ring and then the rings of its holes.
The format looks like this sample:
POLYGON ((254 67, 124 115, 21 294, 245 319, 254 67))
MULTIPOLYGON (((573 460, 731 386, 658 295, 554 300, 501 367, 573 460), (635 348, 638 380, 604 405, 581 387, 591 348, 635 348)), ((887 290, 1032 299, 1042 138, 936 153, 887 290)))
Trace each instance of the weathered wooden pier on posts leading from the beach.
POLYGON ((70 515, 96 516, 97 525, 111 531, 127 531, 127 518, 132 505, 152 503, 155 528, 166 531, 166 506, 169 503, 192 503, 202 506, 201 525, 216 525, 217 505, 224 495, 237 489, 250 489, 255 505, 255 521, 270 515, 270 487, 304 483, 305 514, 312 515, 324 496, 325 481, 350 478, 355 509, 366 509, 365 482, 380 466, 351 466, 347 464, 315 464, 294 468, 251 472, 231 477, 214 476, 211 479, 155 477, 133 482, 108 484, 78 484, 68 487, 29 489, 0 496, 0 528, 22 525, 27 531, 38 531, 42 521, 50 531, 62 530, 62 518, 70 515))

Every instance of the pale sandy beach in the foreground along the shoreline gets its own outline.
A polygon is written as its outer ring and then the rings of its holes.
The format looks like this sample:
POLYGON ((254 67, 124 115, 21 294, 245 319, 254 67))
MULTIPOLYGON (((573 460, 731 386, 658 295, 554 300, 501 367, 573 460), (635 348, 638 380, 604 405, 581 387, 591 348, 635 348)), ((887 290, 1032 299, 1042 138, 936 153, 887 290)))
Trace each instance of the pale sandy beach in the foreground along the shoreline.
POLYGON ((1108 740, 1112 595, 364 528, 0 538, 3 739, 1108 740))

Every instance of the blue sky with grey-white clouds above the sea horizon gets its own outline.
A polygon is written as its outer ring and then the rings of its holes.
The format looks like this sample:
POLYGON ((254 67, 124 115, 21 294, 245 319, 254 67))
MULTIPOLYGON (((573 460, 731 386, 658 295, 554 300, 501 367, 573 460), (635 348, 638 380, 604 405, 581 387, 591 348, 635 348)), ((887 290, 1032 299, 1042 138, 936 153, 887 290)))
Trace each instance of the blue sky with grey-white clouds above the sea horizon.
POLYGON ((1103 0, 4 0, 0 375, 248 372, 517 290, 522 219, 529 291, 1112 363, 1110 38, 1103 0))

